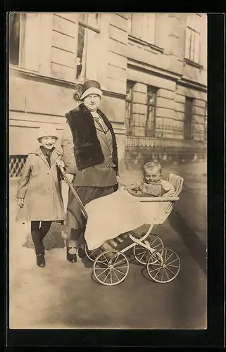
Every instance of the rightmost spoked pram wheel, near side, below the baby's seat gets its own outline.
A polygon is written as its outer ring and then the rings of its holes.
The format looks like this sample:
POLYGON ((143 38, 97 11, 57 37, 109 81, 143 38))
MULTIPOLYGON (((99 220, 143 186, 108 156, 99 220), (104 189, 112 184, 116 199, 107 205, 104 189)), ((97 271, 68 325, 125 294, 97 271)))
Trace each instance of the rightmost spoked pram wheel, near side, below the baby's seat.
POLYGON ((151 253, 146 269, 153 281, 165 284, 175 279, 180 272, 180 258, 172 249, 158 249, 151 253))

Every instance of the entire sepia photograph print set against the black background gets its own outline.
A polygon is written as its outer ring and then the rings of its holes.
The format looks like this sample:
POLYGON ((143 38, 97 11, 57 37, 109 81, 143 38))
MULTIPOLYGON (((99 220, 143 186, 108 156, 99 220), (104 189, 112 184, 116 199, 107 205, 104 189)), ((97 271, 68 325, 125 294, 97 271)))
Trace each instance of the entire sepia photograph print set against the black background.
POLYGON ((207 17, 8 13, 9 329, 207 329, 207 17))

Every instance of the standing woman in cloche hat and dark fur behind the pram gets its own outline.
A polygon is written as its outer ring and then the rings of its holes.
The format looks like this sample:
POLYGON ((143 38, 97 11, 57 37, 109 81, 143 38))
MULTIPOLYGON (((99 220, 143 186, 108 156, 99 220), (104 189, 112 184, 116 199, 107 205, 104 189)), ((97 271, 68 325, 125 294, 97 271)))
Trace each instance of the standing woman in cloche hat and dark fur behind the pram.
MULTIPOLYGON (((65 114, 67 121, 61 140, 65 172, 84 205, 118 188, 117 144, 111 123, 98 108, 101 96, 99 82, 84 82, 82 103, 65 114)), ((70 189, 66 218, 67 259, 76 262, 77 250, 79 256, 84 256, 86 222, 70 189)))

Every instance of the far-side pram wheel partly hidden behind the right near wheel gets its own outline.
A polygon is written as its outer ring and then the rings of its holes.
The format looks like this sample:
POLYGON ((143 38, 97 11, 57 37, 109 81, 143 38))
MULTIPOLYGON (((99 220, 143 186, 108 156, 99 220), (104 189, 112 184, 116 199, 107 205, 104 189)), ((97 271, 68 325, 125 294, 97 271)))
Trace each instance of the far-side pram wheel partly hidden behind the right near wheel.
MULTIPOLYGON (((151 247, 151 249, 154 249, 155 251, 157 249, 163 248, 163 241, 156 234, 150 234, 149 237, 144 241, 144 243, 146 241, 149 243, 149 246, 151 247)), ((142 265, 146 265, 149 259, 149 256, 151 254, 151 251, 141 246, 140 244, 135 244, 133 248, 133 253, 138 263, 142 265)))

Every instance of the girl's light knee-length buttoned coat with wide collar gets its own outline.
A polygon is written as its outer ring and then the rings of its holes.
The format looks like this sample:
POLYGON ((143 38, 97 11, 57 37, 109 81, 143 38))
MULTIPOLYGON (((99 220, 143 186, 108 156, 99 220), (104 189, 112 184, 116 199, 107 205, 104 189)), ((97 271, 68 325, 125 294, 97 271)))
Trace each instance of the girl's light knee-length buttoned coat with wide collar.
POLYGON ((17 198, 24 199, 17 221, 64 220, 61 180, 56 167, 56 162, 61 158, 62 153, 56 149, 51 154, 51 166, 41 149, 27 156, 16 194, 17 198))

